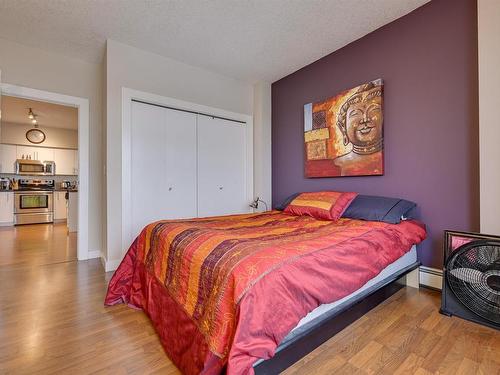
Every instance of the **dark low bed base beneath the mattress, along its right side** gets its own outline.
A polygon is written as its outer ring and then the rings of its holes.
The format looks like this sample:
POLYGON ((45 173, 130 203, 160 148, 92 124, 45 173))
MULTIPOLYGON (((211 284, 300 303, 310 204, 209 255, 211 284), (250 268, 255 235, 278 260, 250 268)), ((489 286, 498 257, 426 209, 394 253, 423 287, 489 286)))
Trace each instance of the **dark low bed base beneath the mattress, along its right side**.
POLYGON ((333 315, 280 345, 274 357, 254 365, 255 373, 258 375, 280 373, 400 289, 405 286, 418 288, 419 266, 420 263, 416 262, 394 273, 377 284, 374 290, 353 298, 333 315))

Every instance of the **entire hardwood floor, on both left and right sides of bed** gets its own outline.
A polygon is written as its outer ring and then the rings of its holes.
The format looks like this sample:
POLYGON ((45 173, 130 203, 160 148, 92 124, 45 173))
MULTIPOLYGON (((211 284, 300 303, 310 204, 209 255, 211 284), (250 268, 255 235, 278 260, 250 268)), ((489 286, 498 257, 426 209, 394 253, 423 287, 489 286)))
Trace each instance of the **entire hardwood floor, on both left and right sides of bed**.
MULTIPOLYGON (((64 226, 0 228, 1 374, 178 374, 148 318, 103 306, 99 260, 76 261, 64 226)), ((285 374, 500 374, 500 333, 403 289, 285 374)))

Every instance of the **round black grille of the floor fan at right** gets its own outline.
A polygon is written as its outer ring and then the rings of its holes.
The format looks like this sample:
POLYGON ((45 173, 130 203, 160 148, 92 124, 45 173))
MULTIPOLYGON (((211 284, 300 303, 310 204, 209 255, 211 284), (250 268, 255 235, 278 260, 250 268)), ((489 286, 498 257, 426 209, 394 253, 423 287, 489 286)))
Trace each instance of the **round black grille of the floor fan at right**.
POLYGON ((500 324, 500 242, 474 241, 458 248, 446 264, 446 280, 469 310, 500 324))

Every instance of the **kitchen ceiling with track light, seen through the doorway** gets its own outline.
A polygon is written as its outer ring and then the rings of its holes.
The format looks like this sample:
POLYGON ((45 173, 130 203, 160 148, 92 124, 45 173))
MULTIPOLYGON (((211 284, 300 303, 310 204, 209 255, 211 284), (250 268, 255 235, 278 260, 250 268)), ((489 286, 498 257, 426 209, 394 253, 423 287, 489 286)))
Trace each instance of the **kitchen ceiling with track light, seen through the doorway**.
POLYGON ((28 118, 30 108, 41 128, 78 130, 78 109, 75 107, 5 95, 2 95, 2 122, 31 125, 28 118))

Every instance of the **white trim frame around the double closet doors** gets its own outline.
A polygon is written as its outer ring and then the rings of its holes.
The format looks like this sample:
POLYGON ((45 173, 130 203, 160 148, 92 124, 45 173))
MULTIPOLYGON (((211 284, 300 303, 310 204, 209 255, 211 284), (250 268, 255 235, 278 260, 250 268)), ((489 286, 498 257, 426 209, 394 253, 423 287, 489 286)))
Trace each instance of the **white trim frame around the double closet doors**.
MULTIPOLYGON (((253 116, 230 112, 220 108, 209 107, 151 94, 144 91, 122 87, 122 254, 125 254, 132 238, 132 101, 139 100, 152 105, 170 107, 185 111, 197 112, 207 116, 213 115, 225 119, 244 122, 246 126, 246 196, 248 204, 254 199, 253 186, 253 116)), ((251 210, 249 210, 251 211, 251 210)))

